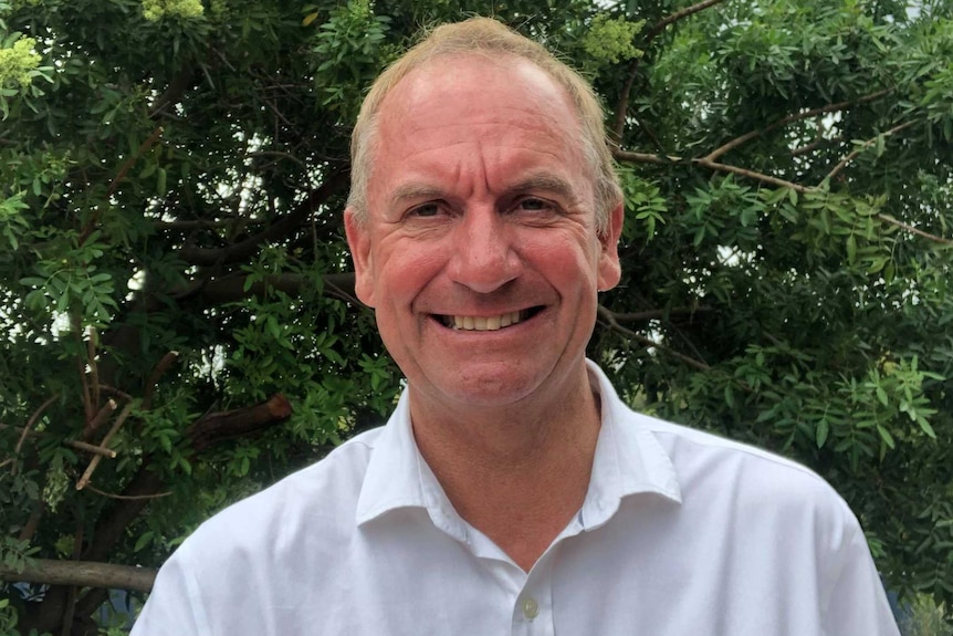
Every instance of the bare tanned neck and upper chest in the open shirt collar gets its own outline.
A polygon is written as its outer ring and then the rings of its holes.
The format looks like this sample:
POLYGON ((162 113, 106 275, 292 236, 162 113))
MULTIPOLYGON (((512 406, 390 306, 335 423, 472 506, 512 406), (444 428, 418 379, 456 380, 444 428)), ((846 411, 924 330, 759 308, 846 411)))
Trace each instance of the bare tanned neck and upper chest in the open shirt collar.
POLYGON ((599 435, 582 382, 558 399, 434 411, 415 399, 413 435, 457 512, 528 572, 583 504, 599 435))

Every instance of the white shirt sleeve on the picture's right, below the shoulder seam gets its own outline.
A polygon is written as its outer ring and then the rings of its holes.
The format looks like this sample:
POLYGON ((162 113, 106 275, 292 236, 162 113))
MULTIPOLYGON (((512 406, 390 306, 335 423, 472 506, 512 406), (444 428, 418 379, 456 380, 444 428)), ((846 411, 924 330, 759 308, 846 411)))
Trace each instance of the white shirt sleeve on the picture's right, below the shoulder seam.
POLYGON ((887 592, 856 520, 845 530, 839 572, 826 598, 826 636, 900 636, 887 592))

